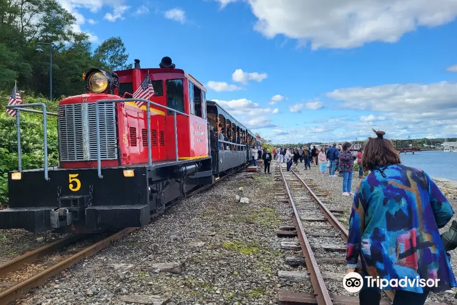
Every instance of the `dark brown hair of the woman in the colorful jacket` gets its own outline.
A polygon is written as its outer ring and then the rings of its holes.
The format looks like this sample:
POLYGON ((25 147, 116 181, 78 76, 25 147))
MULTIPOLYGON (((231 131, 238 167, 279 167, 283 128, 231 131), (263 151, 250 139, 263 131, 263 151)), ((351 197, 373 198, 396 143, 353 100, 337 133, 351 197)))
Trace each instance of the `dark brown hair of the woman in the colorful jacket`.
POLYGON ((400 164, 400 155, 389 139, 384 139, 385 132, 374 130, 376 138, 368 137, 362 155, 362 167, 373 170, 374 167, 384 167, 390 164, 400 164))

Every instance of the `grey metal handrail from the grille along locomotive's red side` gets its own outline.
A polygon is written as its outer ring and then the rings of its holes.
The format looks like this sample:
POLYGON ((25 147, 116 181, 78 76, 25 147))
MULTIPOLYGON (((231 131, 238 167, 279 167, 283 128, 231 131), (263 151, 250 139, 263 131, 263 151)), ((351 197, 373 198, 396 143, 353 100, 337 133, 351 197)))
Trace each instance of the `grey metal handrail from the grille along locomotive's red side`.
POLYGON ((149 109, 149 105, 154 105, 160 108, 167 109, 169 111, 173 111, 173 119, 174 119, 174 130, 175 130, 175 151, 176 151, 176 161, 178 161, 178 127, 176 124, 176 113, 190 116, 187 113, 178 111, 173 108, 169 108, 164 105, 160 105, 154 102, 151 102, 146 99, 114 99, 114 100, 99 100, 95 102, 95 126, 96 126, 96 135, 97 135, 97 174, 99 178, 103 178, 102 175, 102 160, 100 157, 100 117, 99 117, 99 104, 107 104, 107 103, 125 103, 125 102, 145 102, 146 103, 146 120, 147 120, 147 132, 148 132, 148 166, 152 167, 152 156, 151 156, 151 110, 149 109))

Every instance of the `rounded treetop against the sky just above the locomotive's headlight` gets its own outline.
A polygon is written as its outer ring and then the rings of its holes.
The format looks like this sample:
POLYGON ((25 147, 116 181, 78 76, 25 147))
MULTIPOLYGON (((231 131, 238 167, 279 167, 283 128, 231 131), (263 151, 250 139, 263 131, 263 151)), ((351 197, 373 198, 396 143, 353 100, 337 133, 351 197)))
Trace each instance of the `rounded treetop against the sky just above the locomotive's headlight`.
POLYGON ((105 40, 95 49, 93 57, 102 64, 103 70, 116 71, 132 68, 132 64, 127 64, 128 53, 125 53, 125 46, 120 37, 110 37, 105 40))

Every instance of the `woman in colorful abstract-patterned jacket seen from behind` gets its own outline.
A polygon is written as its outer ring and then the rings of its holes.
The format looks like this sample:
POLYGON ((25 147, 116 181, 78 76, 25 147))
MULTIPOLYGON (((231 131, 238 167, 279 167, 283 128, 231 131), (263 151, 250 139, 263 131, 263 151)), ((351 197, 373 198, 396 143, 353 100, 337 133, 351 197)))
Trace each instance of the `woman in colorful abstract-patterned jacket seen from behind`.
POLYGON ((364 148, 363 167, 371 173, 352 205, 347 272, 362 268, 361 305, 380 302, 380 289, 369 287, 366 276, 385 281, 384 290, 396 290, 394 305, 423 305, 430 291, 457 287, 438 231, 454 212, 425 172, 400 164, 384 134, 376 131, 377 137, 369 138, 364 148), (403 285, 402 279, 407 279, 403 285), (423 287, 420 281, 433 285, 423 287))

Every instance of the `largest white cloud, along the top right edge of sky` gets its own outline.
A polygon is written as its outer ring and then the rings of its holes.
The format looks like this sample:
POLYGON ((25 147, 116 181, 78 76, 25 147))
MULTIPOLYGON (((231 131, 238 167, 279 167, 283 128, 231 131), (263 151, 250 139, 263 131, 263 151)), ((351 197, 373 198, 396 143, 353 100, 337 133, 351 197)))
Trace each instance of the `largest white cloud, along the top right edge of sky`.
MULTIPOLYGON (((234 0, 218 0, 221 7, 234 0)), ((419 26, 453 21, 455 0, 247 0, 257 17, 254 29, 267 38, 284 35, 311 48, 353 48, 397 42, 419 26)))

